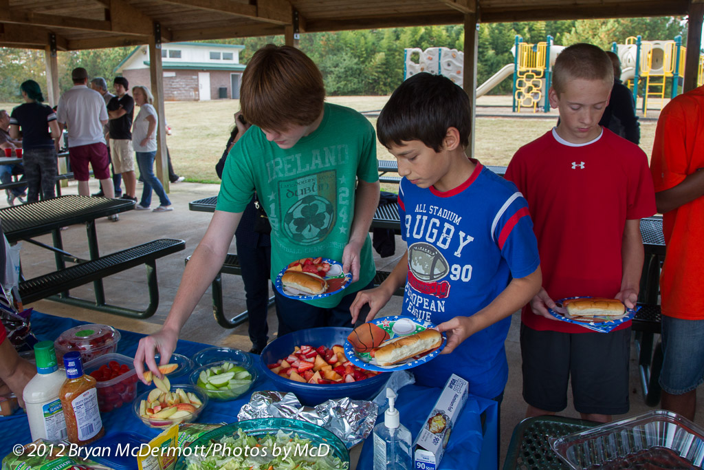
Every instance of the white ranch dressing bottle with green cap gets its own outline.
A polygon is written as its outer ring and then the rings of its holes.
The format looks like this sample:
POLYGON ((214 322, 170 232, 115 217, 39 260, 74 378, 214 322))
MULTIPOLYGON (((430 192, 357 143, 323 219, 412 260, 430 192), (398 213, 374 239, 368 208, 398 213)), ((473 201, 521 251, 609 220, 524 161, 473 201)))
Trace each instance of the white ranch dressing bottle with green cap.
POLYGON ((22 392, 30 421, 32 440, 61 440, 66 437, 66 423, 58 392, 65 375, 58 369, 54 342, 42 341, 34 345, 37 375, 22 392))

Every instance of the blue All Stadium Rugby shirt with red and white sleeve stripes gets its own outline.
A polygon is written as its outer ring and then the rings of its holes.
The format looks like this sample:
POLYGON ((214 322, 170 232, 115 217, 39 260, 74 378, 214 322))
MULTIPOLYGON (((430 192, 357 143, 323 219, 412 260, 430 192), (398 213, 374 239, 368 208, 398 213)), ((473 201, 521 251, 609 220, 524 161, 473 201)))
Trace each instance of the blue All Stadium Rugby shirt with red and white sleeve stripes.
MULTIPOLYGON (((512 278, 528 276, 540 264, 526 200, 513 183, 474 163, 470 178, 447 192, 401 180, 398 209, 408 244, 403 315, 436 325, 471 316, 512 278)), ((503 343, 510 322, 494 323, 451 354, 413 369, 417 382, 441 387, 456 373, 470 383, 470 393, 500 395, 508 379, 503 343)))

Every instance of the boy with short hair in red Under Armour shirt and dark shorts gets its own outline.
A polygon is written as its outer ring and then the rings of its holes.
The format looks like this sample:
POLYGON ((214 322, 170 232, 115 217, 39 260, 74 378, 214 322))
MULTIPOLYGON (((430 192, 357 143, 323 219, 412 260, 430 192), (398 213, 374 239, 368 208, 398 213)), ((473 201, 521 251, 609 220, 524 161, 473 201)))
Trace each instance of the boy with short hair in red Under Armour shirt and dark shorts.
POLYGON ((627 307, 638 297, 640 219, 655 212, 655 196, 643 151, 598 125, 612 85, 604 51, 562 51, 548 91, 560 123, 519 149, 506 171, 528 201, 543 268, 543 288, 521 316, 527 416, 565 409, 570 377, 583 419, 608 422, 629 409, 631 323, 594 333, 547 310, 565 297, 610 297, 627 307))

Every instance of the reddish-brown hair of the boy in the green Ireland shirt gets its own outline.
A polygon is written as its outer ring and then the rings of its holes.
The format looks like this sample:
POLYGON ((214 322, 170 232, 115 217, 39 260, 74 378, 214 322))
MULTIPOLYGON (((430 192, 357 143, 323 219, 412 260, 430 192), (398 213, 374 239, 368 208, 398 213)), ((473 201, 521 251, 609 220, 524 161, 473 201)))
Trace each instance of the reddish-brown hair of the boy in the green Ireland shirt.
POLYGON ((242 74, 239 106, 245 120, 260 128, 312 124, 322 114, 323 101, 320 70, 295 47, 266 45, 242 74))

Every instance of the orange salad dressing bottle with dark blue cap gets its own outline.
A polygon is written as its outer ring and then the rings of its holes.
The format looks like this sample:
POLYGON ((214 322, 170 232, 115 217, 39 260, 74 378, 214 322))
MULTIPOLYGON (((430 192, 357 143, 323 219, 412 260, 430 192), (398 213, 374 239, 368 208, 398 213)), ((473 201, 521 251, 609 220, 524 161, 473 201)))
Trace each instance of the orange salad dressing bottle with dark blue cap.
POLYGON ((66 368, 66 380, 61 385, 59 397, 66 419, 68 441, 86 445, 105 434, 98 409, 96 380, 83 373, 80 352, 64 354, 63 365, 66 368))

